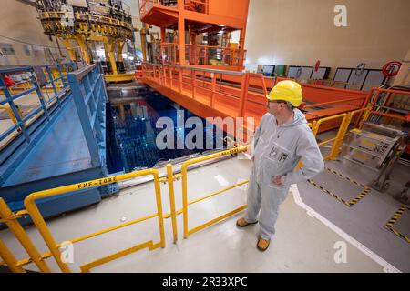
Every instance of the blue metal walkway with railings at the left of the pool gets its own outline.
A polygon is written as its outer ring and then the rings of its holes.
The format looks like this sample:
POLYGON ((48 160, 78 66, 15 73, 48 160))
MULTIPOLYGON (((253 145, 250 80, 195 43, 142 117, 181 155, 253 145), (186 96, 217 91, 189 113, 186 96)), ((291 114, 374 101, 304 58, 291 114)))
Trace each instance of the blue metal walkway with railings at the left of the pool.
MULTIPOLYGON (((77 64, 64 64, 78 67, 77 64)), ((30 193, 65 186, 82 181, 108 176, 106 166, 106 99, 104 77, 100 65, 63 75, 56 65, 59 77, 53 79, 50 66, 43 66, 55 95, 45 100, 41 87, 32 80, 41 103, 35 112, 42 112, 36 122, 26 127, 18 116, 14 100, 21 95, 11 95, 5 87, 0 69, 0 85, 5 91, 7 103, 14 109, 17 125, 22 134, 0 152, 0 196, 5 198, 12 210, 23 207, 24 198, 30 193), (57 92, 56 80, 63 81, 64 88, 57 92), (84 98, 89 95, 86 105, 84 98), (57 102, 50 104, 52 100, 57 102)), ((25 70, 33 71, 32 67, 25 70)), ((18 72, 22 68, 16 69, 18 72)), ((13 70, 7 69, 8 74, 13 70)), ((4 138, 0 135, 0 140, 4 138)), ((118 192, 118 185, 100 186, 81 192, 68 193, 38 201, 43 216, 56 216, 78 207, 95 204, 101 197, 118 192)), ((25 223, 28 218, 23 219, 25 223)))

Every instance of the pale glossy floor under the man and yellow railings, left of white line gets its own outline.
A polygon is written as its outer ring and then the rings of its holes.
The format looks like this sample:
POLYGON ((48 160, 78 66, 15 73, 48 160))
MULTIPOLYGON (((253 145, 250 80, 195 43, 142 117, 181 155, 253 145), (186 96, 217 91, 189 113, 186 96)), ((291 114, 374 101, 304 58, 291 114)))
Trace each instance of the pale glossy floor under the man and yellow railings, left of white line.
MULTIPOLYGON (((233 185, 247 179, 251 163, 231 158, 189 172, 189 200, 210 194, 225 184, 233 185), (232 171, 232 169, 234 169, 232 171)), ((169 213, 168 188, 161 185, 164 212, 169 213)), ((180 181, 175 182, 177 209, 181 207, 180 181)), ((232 189, 220 196, 210 197, 189 208, 190 228, 245 204, 245 187, 232 189)), ((153 186, 146 183, 126 188, 118 197, 110 197, 96 206, 48 221, 57 242, 63 242, 108 226, 115 226, 141 216, 155 213, 153 186)), ((179 240, 172 243, 170 218, 165 219, 167 246, 149 252, 147 249, 119 258, 92 272, 383 272, 384 266, 364 254, 333 228, 312 217, 302 208, 297 187, 281 206, 276 235, 269 249, 256 249, 258 226, 238 228, 235 221, 242 213, 231 216, 189 236, 182 237, 182 216, 178 216, 179 240), (296 200, 295 200, 296 198, 296 200), (298 204, 296 202, 298 202, 298 204), (336 245, 335 245, 336 244, 336 245), (335 263, 338 244, 346 246, 346 263, 335 263), (336 249, 336 248, 337 249, 336 249)), ((46 246, 34 227, 27 233, 41 252, 46 246)), ((16 256, 25 251, 7 231, 0 232, 16 256)), ((121 249, 153 239, 159 241, 158 221, 150 219, 136 226, 128 226, 112 233, 77 243, 74 248, 73 271, 79 266, 107 256, 121 249)), ((49 266, 57 272, 54 259, 49 266)), ((36 270, 36 266, 27 266, 36 270)))

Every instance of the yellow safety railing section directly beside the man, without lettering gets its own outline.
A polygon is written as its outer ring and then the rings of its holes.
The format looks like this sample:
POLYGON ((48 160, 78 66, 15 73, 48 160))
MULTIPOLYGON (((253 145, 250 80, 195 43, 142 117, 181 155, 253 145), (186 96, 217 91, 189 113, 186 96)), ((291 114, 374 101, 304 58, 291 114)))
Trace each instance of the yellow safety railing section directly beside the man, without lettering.
POLYGON ((220 156, 228 156, 228 155, 232 155, 232 154, 237 154, 237 153, 245 152, 245 151, 248 150, 248 148, 249 148, 249 146, 235 147, 235 148, 232 148, 232 149, 230 149, 230 150, 222 151, 222 152, 220 152, 220 153, 216 153, 216 154, 212 154, 212 155, 208 155, 208 156, 196 157, 196 158, 190 159, 190 160, 185 161, 184 163, 182 163, 182 166, 181 166, 181 176, 182 176, 182 214, 183 214, 183 222, 184 222, 184 238, 187 238, 187 237, 190 236, 191 234, 193 234, 193 233, 199 231, 200 229, 205 228, 205 227, 210 226, 210 225, 213 225, 213 224, 219 222, 220 220, 222 220, 222 219, 224 219, 224 218, 226 218, 226 217, 228 217, 228 216, 232 216, 232 215, 234 215, 235 213, 240 212, 241 210, 243 210, 243 209, 246 208, 246 205, 241 206, 241 207, 238 207, 238 208, 232 210, 231 212, 224 214, 223 216, 219 216, 219 217, 217 217, 217 218, 214 218, 214 219, 210 220, 210 221, 207 222, 207 223, 204 223, 204 224, 202 224, 202 225, 200 225, 200 226, 196 226, 196 227, 194 227, 194 228, 192 228, 192 229, 189 229, 189 227, 188 227, 188 206, 190 206, 190 205, 192 205, 192 204, 194 204, 194 203, 200 202, 200 201, 202 201, 202 200, 204 200, 204 199, 207 199, 207 198, 209 198, 209 197, 211 197, 211 196, 219 195, 219 194, 222 193, 222 192, 231 190, 231 189, 234 188, 234 187, 241 186, 241 185, 246 184, 246 183, 249 182, 249 181, 243 181, 243 182, 238 183, 238 184, 236 184, 236 185, 234 185, 234 186, 229 186, 229 187, 224 188, 224 189, 221 189, 221 190, 219 190, 219 191, 217 191, 217 192, 211 193, 211 194, 208 195, 208 196, 203 196, 203 197, 201 197, 201 198, 199 198, 199 199, 192 200, 192 201, 189 202, 189 201, 188 201, 188 181, 187 181, 188 166, 191 166, 191 165, 194 165, 194 164, 198 164, 198 163, 200 163, 200 162, 207 161, 207 160, 210 160, 210 159, 215 159, 215 158, 218 158, 218 157, 220 157, 220 156))

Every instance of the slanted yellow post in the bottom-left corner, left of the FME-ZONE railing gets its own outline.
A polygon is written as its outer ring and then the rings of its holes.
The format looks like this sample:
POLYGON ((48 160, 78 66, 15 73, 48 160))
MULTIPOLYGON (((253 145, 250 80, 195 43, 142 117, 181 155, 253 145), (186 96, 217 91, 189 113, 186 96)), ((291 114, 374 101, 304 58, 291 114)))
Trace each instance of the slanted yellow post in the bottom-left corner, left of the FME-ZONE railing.
POLYGON ((20 225, 16 219, 9 219, 13 216, 13 212, 5 203, 3 198, 0 198, 0 216, 5 220, 5 225, 11 230, 15 235, 15 238, 20 242, 20 244, 26 249, 27 254, 33 259, 33 262, 40 269, 41 272, 51 273, 50 268, 46 265, 46 262, 42 261, 40 253, 38 253, 36 246, 27 236, 25 230, 20 225))

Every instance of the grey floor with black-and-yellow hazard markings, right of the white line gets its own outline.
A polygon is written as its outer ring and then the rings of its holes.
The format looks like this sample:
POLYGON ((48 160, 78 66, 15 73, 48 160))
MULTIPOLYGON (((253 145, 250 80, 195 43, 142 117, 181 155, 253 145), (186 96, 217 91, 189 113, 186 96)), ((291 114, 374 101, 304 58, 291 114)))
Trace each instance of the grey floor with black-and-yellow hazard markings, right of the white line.
MULTIPOLYGON (((324 140, 332 135, 333 133, 330 132, 318 137, 324 140)), ((322 150, 325 156, 328 149, 323 147, 322 150)), ((325 166, 364 186, 370 185, 377 176, 375 171, 345 160, 343 157, 337 161, 327 161, 325 166)), ((408 173, 408 166, 396 164, 391 176, 391 186, 385 193, 371 189, 369 194, 351 207, 345 206, 333 196, 308 182, 299 184, 298 188, 302 201, 307 206, 312 207, 334 226, 343 229, 346 234, 354 237, 360 244, 395 266, 396 269, 410 272, 410 243, 384 227, 396 211, 401 206, 405 206, 393 196, 399 193, 409 180, 408 173)), ((324 171, 313 180, 346 201, 354 198, 363 189, 329 171, 324 171)), ((403 215, 398 218, 394 228, 399 233, 410 237, 410 210, 408 208, 410 207, 407 206, 403 215)))

